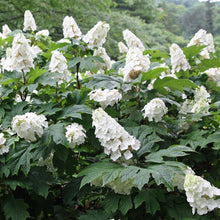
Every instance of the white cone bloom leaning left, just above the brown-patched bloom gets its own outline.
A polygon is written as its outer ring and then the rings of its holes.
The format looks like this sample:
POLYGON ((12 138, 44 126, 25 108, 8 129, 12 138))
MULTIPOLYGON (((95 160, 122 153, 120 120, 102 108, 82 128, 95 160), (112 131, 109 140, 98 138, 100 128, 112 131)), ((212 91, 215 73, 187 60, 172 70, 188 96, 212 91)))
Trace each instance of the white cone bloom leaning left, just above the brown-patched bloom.
POLYGON ((139 48, 142 52, 145 50, 145 47, 141 40, 128 29, 123 31, 123 37, 129 49, 139 48))

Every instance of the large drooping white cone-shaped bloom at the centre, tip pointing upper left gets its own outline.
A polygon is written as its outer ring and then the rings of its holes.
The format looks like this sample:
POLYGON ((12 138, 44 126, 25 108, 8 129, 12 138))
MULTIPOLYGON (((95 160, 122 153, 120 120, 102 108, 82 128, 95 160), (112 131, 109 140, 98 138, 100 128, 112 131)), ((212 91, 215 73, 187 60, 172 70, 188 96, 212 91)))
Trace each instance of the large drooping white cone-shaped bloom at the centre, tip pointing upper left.
POLYGON ((104 146, 104 153, 110 155, 113 161, 122 156, 125 160, 129 160, 133 157, 131 151, 140 148, 140 141, 125 131, 102 108, 93 111, 92 119, 95 135, 104 146))

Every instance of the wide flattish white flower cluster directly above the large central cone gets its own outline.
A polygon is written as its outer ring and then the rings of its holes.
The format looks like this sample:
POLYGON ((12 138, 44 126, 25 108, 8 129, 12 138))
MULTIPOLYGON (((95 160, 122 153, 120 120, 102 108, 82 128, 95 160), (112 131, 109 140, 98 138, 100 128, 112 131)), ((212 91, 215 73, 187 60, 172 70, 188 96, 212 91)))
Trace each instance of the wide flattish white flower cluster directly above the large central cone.
POLYGON ((122 95, 117 89, 97 89, 89 93, 89 98, 99 102, 101 107, 105 109, 108 105, 113 106, 115 103, 118 103, 122 95))

